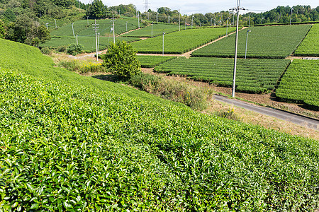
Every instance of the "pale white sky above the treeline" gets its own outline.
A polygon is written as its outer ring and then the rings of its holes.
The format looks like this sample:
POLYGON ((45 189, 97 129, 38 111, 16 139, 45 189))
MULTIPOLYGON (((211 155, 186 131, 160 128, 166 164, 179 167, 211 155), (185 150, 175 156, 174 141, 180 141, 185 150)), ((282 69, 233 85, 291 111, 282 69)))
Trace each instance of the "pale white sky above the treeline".
MULTIPOLYGON (((83 3, 89 3, 90 0, 80 0, 83 3)), ((117 6, 119 4, 134 4, 138 7, 141 12, 145 11, 145 0, 102 0, 103 4, 106 6, 117 6)), ((147 0, 149 8, 152 11, 156 11, 159 7, 168 7, 171 10, 181 10, 181 14, 192 14, 192 13, 208 13, 208 12, 219 12, 228 11, 228 9, 236 6, 236 0, 147 0)), ((295 6, 295 5, 310 5, 311 8, 316 8, 319 6, 318 0, 269 0, 269 1, 252 1, 252 0, 242 0, 240 1, 240 6, 256 12, 269 11, 277 6, 295 6)))

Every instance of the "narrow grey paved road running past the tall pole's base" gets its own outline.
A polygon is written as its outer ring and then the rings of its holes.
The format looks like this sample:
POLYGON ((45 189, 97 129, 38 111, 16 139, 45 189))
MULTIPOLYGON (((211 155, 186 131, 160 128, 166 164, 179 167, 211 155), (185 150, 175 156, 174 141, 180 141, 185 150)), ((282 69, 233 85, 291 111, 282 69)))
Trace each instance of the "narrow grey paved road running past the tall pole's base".
POLYGON ((262 107, 257 105, 252 105, 247 102, 243 102, 236 99, 229 99, 222 95, 214 95, 215 100, 218 100, 220 102, 225 102, 231 105, 235 105, 237 107, 242 107, 247 110, 251 110, 254 112, 258 112, 261 114, 269 115, 272 117, 276 117, 278 119, 282 119, 288 122, 292 122, 294 124, 299 124, 301 126, 307 126, 310 129, 319 130, 319 121, 316 119, 311 119, 308 117, 303 117, 297 114, 292 114, 290 112, 284 112, 282 110, 275 110, 269 107, 262 107))

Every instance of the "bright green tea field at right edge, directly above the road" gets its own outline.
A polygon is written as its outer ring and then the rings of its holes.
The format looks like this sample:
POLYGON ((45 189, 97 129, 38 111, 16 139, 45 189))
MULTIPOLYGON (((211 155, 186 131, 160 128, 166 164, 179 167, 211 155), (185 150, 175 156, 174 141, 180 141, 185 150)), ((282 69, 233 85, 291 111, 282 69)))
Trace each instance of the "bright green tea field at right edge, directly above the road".
POLYGON ((276 89, 276 96, 319 107, 319 61, 294 59, 276 89))

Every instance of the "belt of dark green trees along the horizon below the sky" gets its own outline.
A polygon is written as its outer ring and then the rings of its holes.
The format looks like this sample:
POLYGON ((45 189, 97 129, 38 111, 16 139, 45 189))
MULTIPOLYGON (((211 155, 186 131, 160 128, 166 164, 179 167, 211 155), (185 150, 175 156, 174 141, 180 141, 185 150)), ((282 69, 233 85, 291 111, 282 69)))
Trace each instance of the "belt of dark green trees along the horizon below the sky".
MULTIPOLYGON (((0 0, 0 38, 6 38, 28 45, 38 46, 39 42, 50 39, 50 33, 41 25, 40 20, 57 19, 65 23, 81 18, 110 18, 115 16, 136 17, 162 23, 178 23, 191 25, 233 25, 235 14, 230 11, 215 13, 194 13, 191 16, 179 14, 178 10, 167 7, 157 11, 149 9, 143 13, 136 10, 133 4, 108 7, 101 0, 91 4, 83 4, 78 0, 0 0)), ((319 6, 277 6, 264 13, 245 13, 240 15, 240 25, 256 25, 260 23, 289 23, 319 21, 319 6), (292 11, 292 13, 291 13, 292 11)))

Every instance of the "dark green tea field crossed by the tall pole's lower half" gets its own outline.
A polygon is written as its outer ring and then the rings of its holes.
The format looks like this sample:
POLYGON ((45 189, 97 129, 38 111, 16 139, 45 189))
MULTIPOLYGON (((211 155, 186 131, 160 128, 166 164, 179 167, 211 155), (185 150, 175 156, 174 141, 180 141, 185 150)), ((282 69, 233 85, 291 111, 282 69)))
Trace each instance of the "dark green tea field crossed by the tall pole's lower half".
MULTIPOLYGON (((197 81, 208 81, 218 86, 232 86, 234 59, 191 57, 178 58, 160 64, 155 71, 189 76, 197 81)), ((289 60, 238 59, 236 90, 247 93, 263 93, 274 89, 284 73, 289 60)))

